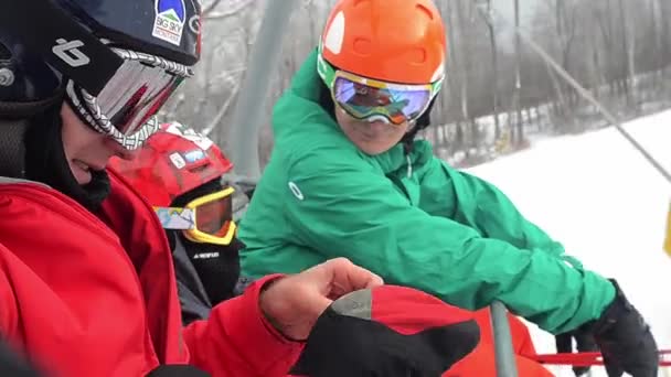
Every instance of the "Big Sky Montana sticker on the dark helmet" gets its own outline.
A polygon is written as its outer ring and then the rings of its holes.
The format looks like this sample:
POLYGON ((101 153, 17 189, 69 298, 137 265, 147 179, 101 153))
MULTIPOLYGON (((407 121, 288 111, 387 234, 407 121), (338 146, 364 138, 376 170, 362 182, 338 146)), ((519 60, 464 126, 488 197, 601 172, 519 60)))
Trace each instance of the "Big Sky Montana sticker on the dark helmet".
POLYGON ((187 23, 184 0, 156 0, 155 11, 151 35, 179 46, 187 23))

